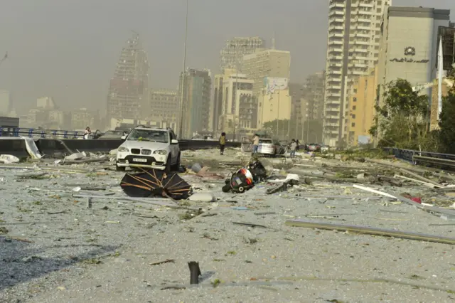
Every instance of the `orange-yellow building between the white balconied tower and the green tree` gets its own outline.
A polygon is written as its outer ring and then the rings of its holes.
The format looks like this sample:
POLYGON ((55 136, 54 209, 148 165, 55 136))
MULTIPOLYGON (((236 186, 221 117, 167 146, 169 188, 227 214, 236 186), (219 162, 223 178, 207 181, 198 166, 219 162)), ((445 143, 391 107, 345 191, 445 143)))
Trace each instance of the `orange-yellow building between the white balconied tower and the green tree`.
POLYGON ((375 105, 378 93, 378 69, 361 75, 349 92, 349 108, 346 113, 346 143, 350 147, 372 142, 369 134, 375 122, 375 105))

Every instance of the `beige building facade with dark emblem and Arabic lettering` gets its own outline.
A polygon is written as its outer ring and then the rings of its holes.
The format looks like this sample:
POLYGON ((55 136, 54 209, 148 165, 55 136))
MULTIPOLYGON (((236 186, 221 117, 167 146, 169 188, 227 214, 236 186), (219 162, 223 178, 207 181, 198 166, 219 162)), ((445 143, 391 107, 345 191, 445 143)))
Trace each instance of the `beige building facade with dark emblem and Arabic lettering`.
MULTIPOLYGON (((405 79, 412 86, 431 83, 437 75, 439 26, 449 26, 449 10, 390 6, 382 23, 379 62, 380 105, 383 85, 405 79)), ((421 90, 430 95, 429 90, 421 90)))

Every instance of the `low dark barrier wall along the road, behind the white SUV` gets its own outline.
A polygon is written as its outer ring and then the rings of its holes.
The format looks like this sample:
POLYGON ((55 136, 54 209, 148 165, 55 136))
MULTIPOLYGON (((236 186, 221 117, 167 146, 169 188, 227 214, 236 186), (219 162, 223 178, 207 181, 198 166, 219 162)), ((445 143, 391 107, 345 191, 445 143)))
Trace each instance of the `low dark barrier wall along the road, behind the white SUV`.
MULTIPOLYGON (((68 154, 65 145, 73 152, 91 151, 91 152, 109 152, 112 149, 117 149, 122 140, 83 140, 83 139, 38 139, 35 141, 36 147, 41 151, 42 155, 52 156, 53 154, 68 154)), ((178 142, 181 150, 191 149, 216 149, 218 141, 203 141, 203 140, 181 140, 178 142)), ((240 147, 240 142, 226 142, 226 147, 240 147)), ((0 139, 0 154, 11 154, 17 157, 27 157, 25 140, 16 137, 5 137, 0 139)))

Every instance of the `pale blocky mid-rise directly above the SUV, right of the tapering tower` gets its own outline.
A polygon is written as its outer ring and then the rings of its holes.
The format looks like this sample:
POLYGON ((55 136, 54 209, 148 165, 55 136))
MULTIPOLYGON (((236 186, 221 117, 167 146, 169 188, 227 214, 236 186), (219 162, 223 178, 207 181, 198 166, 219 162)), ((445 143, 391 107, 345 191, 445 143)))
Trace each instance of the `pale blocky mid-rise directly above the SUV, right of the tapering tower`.
POLYGON ((180 98, 177 90, 150 90, 149 119, 161 127, 176 129, 180 98))

